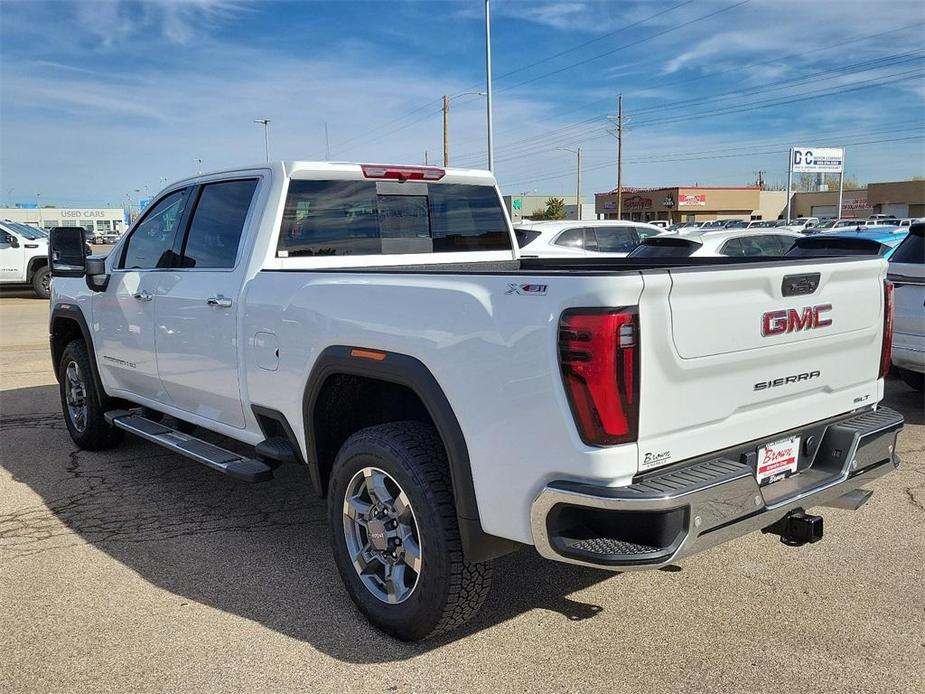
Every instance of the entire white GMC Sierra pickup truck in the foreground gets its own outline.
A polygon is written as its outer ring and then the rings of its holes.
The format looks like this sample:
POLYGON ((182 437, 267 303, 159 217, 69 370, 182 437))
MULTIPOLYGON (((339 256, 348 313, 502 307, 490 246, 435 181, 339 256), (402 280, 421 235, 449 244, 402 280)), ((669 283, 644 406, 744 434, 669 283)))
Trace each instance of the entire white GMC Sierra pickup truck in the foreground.
POLYGON ((468 619, 522 545, 622 571, 814 542, 807 508, 899 464, 877 257, 521 259, 486 172, 311 162, 179 181, 106 258, 82 243, 50 250, 77 445, 307 466, 401 639, 468 619))

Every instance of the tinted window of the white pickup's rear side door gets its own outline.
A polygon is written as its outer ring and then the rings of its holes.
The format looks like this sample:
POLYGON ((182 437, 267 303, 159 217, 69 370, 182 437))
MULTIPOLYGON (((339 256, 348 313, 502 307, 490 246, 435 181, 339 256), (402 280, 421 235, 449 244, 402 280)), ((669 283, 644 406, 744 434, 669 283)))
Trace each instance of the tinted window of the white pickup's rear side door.
POLYGON ((180 267, 232 268, 257 179, 209 183, 202 189, 180 267))

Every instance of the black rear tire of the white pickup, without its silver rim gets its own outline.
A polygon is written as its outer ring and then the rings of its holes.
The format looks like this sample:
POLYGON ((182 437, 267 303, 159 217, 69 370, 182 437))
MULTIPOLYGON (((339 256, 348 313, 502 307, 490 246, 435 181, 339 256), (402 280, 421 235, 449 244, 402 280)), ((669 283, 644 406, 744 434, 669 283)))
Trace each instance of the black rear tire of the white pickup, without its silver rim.
POLYGON ((464 624, 491 587, 490 562, 463 557, 446 450, 432 426, 390 422, 353 434, 334 462, 328 489, 331 545, 350 597, 376 627, 402 641, 417 641, 464 624), (344 501, 354 476, 378 468, 407 495, 419 533, 421 571, 411 594, 389 604, 360 580, 344 532, 344 501))

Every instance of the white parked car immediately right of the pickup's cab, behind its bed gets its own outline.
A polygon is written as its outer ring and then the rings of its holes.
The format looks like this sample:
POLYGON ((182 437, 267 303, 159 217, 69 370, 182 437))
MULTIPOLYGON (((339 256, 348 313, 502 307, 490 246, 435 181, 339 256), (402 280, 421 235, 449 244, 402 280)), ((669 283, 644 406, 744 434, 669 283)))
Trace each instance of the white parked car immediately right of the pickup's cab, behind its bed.
POLYGON ((642 239, 664 231, 652 224, 625 220, 518 222, 514 227, 521 254, 540 258, 589 253, 621 257, 642 239))

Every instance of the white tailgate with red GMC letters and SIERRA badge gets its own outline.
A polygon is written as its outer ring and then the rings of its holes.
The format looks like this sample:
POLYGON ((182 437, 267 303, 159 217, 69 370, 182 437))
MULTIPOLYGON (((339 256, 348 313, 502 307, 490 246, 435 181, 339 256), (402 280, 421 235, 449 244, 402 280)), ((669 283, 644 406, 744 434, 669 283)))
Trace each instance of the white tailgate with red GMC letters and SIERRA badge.
POLYGON ((639 469, 877 402, 885 274, 876 258, 645 274, 639 469))

